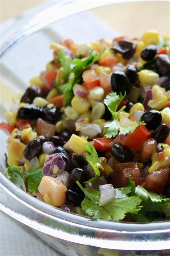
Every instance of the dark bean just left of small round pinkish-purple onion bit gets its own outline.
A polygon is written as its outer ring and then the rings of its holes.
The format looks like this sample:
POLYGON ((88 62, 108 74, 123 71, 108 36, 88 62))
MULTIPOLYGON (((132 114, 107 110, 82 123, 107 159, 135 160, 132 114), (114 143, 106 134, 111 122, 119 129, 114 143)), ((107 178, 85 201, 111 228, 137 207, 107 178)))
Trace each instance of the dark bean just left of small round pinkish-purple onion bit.
POLYGON ((34 157, 38 157, 42 152, 42 144, 46 141, 48 141, 48 138, 44 136, 38 136, 31 140, 24 149, 24 157, 29 161, 34 157))

